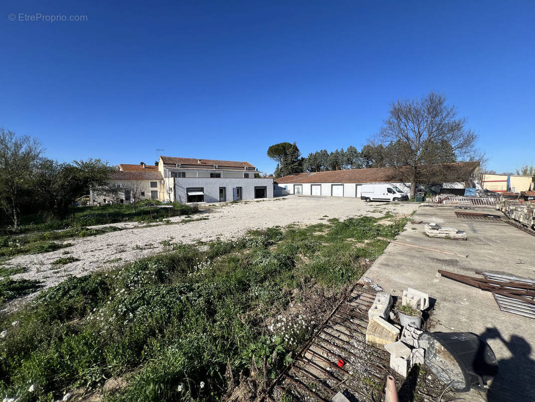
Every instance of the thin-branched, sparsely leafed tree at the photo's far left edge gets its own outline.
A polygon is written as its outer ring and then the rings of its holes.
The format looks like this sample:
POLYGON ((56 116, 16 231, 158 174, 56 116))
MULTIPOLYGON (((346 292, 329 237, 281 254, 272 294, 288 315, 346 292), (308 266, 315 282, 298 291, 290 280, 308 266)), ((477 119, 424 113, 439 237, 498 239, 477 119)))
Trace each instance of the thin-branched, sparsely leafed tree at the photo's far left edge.
POLYGON ((32 189, 42 151, 37 139, 0 129, 0 205, 16 228, 20 225, 21 200, 32 189))

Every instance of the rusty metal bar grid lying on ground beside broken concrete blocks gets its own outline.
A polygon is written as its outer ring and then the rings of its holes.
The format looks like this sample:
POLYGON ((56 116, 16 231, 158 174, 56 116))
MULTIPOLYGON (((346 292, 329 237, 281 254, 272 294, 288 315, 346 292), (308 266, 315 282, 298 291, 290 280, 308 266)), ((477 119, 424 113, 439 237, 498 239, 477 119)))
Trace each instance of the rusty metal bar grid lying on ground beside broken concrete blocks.
POLYGON ((355 286, 349 300, 339 304, 279 376, 266 400, 279 401, 289 394, 295 400, 328 402, 347 389, 360 402, 380 401, 389 357, 365 342, 368 310, 374 299, 375 294, 355 286), (340 359, 342 367, 337 364, 340 359))

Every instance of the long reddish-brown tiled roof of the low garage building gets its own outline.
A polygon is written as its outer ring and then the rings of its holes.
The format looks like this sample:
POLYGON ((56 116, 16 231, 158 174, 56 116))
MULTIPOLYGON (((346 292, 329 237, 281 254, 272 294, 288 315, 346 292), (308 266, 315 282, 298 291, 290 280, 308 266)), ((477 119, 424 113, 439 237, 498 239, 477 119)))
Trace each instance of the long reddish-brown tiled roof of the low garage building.
MULTIPOLYGON (((479 166, 478 162, 457 162, 441 163, 430 165, 425 169, 426 181, 442 181, 442 177, 450 180, 464 180, 470 177, 473 171, 479 166)), ((407 180, 408 167, 396 169, 386 168, 366 168, 332 170, 329 172, 297 173, 277 178, 277 183, 384 183, 407 180)))

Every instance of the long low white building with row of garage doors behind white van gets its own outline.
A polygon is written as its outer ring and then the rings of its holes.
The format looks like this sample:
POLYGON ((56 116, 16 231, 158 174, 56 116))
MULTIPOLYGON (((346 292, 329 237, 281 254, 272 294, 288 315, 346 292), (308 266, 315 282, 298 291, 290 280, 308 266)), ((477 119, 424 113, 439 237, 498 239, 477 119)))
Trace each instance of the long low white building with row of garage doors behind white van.
MULTIPOLYGON (((447 183, 442 184, 440 177, 447 176, 456 180, 466 177, 468 180, 469 177, 475 175, 478 164, 458 162, 431 166, 437 172, 436 179, 430 178, 425 182, 418 183, 425 189, 429 188, 428 184, 439 184, 438 187, 446 187, 447 183)), ((430 175, 430 177, 432 176, 433 174, 430 175)), ((361 198, 363 184, 392 184, 404 192, 410 191, 410 183, 400 180, 400 170, 388 167, 298 173, 277 178, 275 183, 274 194, 276 196, 296 194, 361 198)), ((464 188, 464 181, 458 184, 464 188)))

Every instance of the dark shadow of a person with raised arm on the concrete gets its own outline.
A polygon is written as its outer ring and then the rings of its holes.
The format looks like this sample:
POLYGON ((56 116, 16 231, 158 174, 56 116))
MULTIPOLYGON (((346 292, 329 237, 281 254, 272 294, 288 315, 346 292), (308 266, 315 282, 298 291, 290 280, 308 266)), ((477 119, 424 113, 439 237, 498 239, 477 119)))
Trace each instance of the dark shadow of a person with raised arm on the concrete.
POLYGON ((531 346, 517 335, 509 341, 503 339, 496 328, 487 328, 481 335, 484 341, 499 339, 509 352, 511 358, 498 361, 498 375, 494 377, 487 392, 488 402, 506 402, 535 400, 535 361, 530 358, 531 346))

